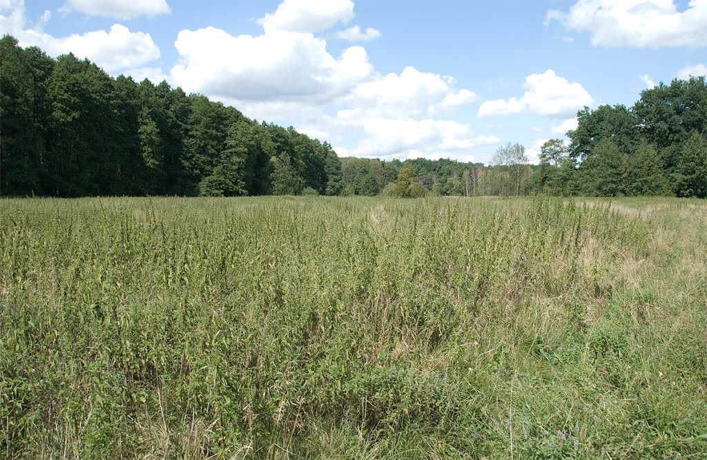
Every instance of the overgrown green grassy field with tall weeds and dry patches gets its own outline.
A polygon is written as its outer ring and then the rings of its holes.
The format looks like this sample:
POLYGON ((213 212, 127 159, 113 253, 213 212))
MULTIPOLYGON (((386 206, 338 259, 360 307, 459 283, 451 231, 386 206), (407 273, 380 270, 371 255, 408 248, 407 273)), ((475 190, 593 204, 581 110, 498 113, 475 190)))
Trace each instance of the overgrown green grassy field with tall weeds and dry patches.
POLYGON ((704 459, 707 203, 0 200, 0 457, 704 459))

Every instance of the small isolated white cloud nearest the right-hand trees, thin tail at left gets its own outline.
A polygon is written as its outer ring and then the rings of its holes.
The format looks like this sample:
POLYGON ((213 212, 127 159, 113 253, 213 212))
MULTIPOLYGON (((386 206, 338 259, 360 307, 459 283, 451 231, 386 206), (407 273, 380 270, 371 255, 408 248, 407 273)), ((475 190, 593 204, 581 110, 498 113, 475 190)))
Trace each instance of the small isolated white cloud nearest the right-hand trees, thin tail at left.
POLYGON ((510 115, 530 111, 536 115, 568 118, 584 105, 590 105, 592 96, 578 83, 570 83, 553 70, 531 74, 525 78, 522 98, 487 100, 479 107, 479 117, 510 115))

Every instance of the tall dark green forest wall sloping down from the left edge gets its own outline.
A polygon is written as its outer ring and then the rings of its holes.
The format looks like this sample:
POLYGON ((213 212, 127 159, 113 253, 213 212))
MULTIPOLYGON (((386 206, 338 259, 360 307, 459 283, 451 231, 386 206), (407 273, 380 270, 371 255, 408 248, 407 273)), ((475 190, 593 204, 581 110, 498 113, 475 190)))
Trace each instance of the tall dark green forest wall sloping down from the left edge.
POLYGON ((332 146, 166 82, 0 40, 1 195, 339 195, 332 146))

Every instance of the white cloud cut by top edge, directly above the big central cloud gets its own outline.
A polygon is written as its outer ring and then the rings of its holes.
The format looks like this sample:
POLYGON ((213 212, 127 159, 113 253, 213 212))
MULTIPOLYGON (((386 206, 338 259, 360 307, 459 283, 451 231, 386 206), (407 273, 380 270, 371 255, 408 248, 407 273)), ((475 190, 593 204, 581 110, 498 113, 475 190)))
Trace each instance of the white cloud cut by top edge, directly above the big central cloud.
POLYGON ((336 23, 348 23, 354 18, 351 0, 284 0, 274 13, 258 20, 266 33, 275 30, 288 32, 320 32, 336 23))

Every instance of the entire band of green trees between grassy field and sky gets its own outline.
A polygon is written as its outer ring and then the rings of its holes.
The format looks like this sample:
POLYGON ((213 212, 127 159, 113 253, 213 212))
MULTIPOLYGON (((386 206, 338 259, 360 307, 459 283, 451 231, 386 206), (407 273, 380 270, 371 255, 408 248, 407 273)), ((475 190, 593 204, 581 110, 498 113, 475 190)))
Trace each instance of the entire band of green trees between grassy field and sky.
POLYGON ((674 80, 578 112, 491 164, 339 159, 327 142, 165 81, 112 78, 73 54, 0 40, 0 195, 677 195, 707 197, 707 84, 674 80))

